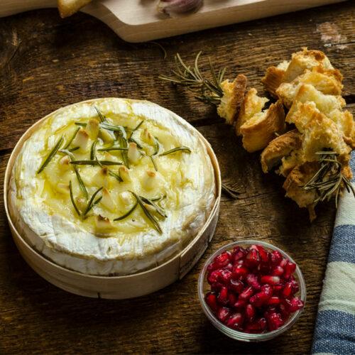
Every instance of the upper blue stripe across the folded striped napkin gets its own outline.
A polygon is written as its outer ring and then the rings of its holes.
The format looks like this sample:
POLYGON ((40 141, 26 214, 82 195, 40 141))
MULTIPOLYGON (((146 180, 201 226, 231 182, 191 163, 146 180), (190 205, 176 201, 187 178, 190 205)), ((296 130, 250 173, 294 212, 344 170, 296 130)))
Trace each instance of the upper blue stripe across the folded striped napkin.
POLYGON ((355 263, 355 225, 341 224, 334 228, 328 263, 332 261, 355 263))

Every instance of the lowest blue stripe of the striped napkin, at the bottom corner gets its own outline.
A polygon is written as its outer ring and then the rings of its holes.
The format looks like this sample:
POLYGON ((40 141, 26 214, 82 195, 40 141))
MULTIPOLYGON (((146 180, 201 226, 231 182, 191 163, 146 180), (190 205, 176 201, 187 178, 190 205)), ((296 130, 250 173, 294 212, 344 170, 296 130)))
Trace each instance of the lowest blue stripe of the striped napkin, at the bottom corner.
POLYGON ((312 354, 355 354, 355 315, 336 310, 318 313, 312 354))

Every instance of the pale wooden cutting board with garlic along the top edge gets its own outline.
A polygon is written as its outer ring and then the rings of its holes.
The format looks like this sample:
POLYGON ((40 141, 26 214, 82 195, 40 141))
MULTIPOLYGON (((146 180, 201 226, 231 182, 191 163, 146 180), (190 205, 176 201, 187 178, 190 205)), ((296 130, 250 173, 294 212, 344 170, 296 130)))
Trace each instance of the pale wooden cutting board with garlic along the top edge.
MULTIPOLYGON (((204 0, 197 13, 180 18, 159 14, 158 0, 96 0, 82 11, 107 23, 124 40, 143 42, 341 1, 204 0)), ((0 17, 55 6, 56 0, 2 0, 0 17)))

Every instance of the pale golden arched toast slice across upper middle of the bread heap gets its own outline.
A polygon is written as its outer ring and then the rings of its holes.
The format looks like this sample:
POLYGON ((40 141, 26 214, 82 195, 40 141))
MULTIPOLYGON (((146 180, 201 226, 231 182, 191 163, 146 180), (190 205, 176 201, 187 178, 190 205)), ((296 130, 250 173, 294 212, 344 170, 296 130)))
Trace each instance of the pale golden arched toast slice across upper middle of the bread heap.
POLYGON ((326 115, 334 109, 342 109, 345 105, 345 100, 339 95, 322 94, 322 92, 315 89, 312 85, 302 84, 297 91, 290 111, 288 111, 286 122, 290 124, 294 123, 294 115, 299 109, 300 102, 314 102, 317 109, 326 115))

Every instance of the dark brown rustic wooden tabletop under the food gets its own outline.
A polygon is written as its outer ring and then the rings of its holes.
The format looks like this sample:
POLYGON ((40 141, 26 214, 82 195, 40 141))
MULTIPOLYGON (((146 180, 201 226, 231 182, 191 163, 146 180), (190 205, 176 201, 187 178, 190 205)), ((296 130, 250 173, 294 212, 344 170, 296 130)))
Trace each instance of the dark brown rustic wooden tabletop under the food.
MULTIPOLYGON (((285 199, 283 179, 264 175, 258 153, 241 147, 213 107, 158 79, 179 52, 192 60, 199 50, 226 77, 244 73, 249 87, 263 92, 269 65, 307 46, 324 50, 344 75, 344 97, 355 111, 355 4, 290 13, 200 33, 131 44, 95 18, 78 13, 61 20, 55 9, 0 19, 1 179, 13 146, 35 121, 58 107, 95 97, 148 99, 190 121, 212 144, 224 182, 242 191, 239 200, 222 197, 211 246, 180 282, 133 300, 96 300, 50 285, 23 261, 11 239, 4 203, 0 213, 1 353, 237 353, 310 352, 317 303, 334 224, 334 203, 307 211, 285 199), (290 331, 264 344, 244 344, 219 333, 204 317, 197 277, 220 246, 239 239, 269 241, 290 253, 305 275, 307 304, 290 331)), ((2 199, 1 199, 2 200, 2 199)))

